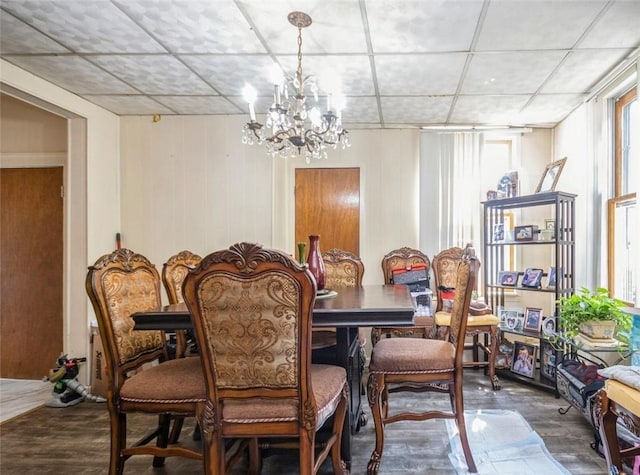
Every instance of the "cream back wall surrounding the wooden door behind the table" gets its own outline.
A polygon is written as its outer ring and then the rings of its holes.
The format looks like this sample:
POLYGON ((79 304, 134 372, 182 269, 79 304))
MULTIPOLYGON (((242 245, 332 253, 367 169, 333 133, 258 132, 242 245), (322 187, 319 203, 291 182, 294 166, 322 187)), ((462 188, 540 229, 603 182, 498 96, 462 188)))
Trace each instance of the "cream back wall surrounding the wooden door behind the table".
POLYGON ((294 176, 300 167, 359 167, 365 283, 382 256, 418 245, 418 132, 351 131, 327 160, 271 158, 241 143, 245 117, 121 118, 124 245, 159 268, 183 249, 200 255, 249 240, 295 253, 294 176))

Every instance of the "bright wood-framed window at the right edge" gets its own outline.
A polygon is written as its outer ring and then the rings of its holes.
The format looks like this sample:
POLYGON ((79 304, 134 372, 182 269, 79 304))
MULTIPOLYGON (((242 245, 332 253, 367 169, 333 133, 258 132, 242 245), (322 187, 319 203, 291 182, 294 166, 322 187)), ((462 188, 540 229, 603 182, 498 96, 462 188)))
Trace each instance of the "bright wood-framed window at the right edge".
POLYGON ((616 100, 614 192, 608 202, 608 276, 612 296, 639 305, 638 205, 640 128, 637 88, 616 100))

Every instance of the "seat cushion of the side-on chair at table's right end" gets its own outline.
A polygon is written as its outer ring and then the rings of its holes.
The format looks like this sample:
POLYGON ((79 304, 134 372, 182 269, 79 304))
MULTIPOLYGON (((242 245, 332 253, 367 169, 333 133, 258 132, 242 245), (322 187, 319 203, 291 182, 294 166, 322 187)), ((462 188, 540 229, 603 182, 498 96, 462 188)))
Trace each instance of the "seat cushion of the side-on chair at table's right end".
POLYGON ((373 347, 370 373, 440 373, 453 371, 455 348, 448 341, 386 338, 373 347))

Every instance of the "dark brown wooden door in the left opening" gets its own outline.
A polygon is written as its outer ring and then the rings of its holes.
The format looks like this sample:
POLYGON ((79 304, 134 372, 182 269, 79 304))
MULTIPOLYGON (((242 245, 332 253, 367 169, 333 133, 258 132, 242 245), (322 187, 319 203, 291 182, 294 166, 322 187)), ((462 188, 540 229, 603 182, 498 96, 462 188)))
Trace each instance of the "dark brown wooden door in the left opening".
POLYGON ((3 378, 41 379, 63 351, 62 170, 0 170, 3 378))

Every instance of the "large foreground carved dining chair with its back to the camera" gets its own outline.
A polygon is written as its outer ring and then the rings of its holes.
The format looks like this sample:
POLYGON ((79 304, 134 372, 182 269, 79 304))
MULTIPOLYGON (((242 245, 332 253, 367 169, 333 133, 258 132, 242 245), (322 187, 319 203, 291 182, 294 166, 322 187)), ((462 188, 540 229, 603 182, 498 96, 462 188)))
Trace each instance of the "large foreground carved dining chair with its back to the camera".
POLYGON ((207 397, 198 407, 206 473, 225 473, 225 442, 243 438, 251 473, 260 469, 258 438, 295 439, 302 475, 329 455, 334 472, 346 473, 346 372, 311 364, 310 271, 284 252, 243 242, 206 256, 185 278, 183 295, 196 338, 206 342, 199 350, 207 397), (316 432, 332 416, 317 448, 316 432))

